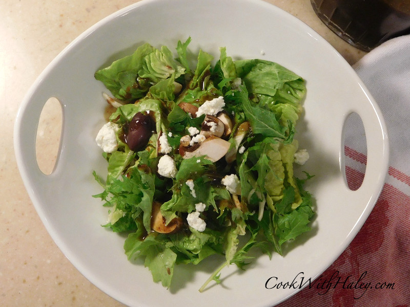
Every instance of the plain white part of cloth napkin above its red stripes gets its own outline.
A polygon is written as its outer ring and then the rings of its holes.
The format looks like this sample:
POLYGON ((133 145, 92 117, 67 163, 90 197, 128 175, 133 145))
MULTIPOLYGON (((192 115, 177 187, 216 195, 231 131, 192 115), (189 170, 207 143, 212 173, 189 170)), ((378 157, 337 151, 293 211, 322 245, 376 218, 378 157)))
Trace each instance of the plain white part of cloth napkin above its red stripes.
MULTIPOLYGON (((410 35, 386 41, 353 67, 386 121, 390 165, 410 175, 410 35)), ((365 153, 363 145, 363 142, 352 144, 365 153)))

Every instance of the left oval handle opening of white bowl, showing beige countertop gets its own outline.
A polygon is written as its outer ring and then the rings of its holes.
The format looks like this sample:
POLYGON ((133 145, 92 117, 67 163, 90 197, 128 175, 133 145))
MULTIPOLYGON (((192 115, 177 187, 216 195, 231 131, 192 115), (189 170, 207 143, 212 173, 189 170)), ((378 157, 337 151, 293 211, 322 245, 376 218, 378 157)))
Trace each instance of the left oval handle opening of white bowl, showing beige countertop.
POLYGON ((43 106, 37 125, 35 157, 38 168, 49 175, 56 166, 60 153, 60 138, 63 109, 55 97, 50 97, 43 106))

